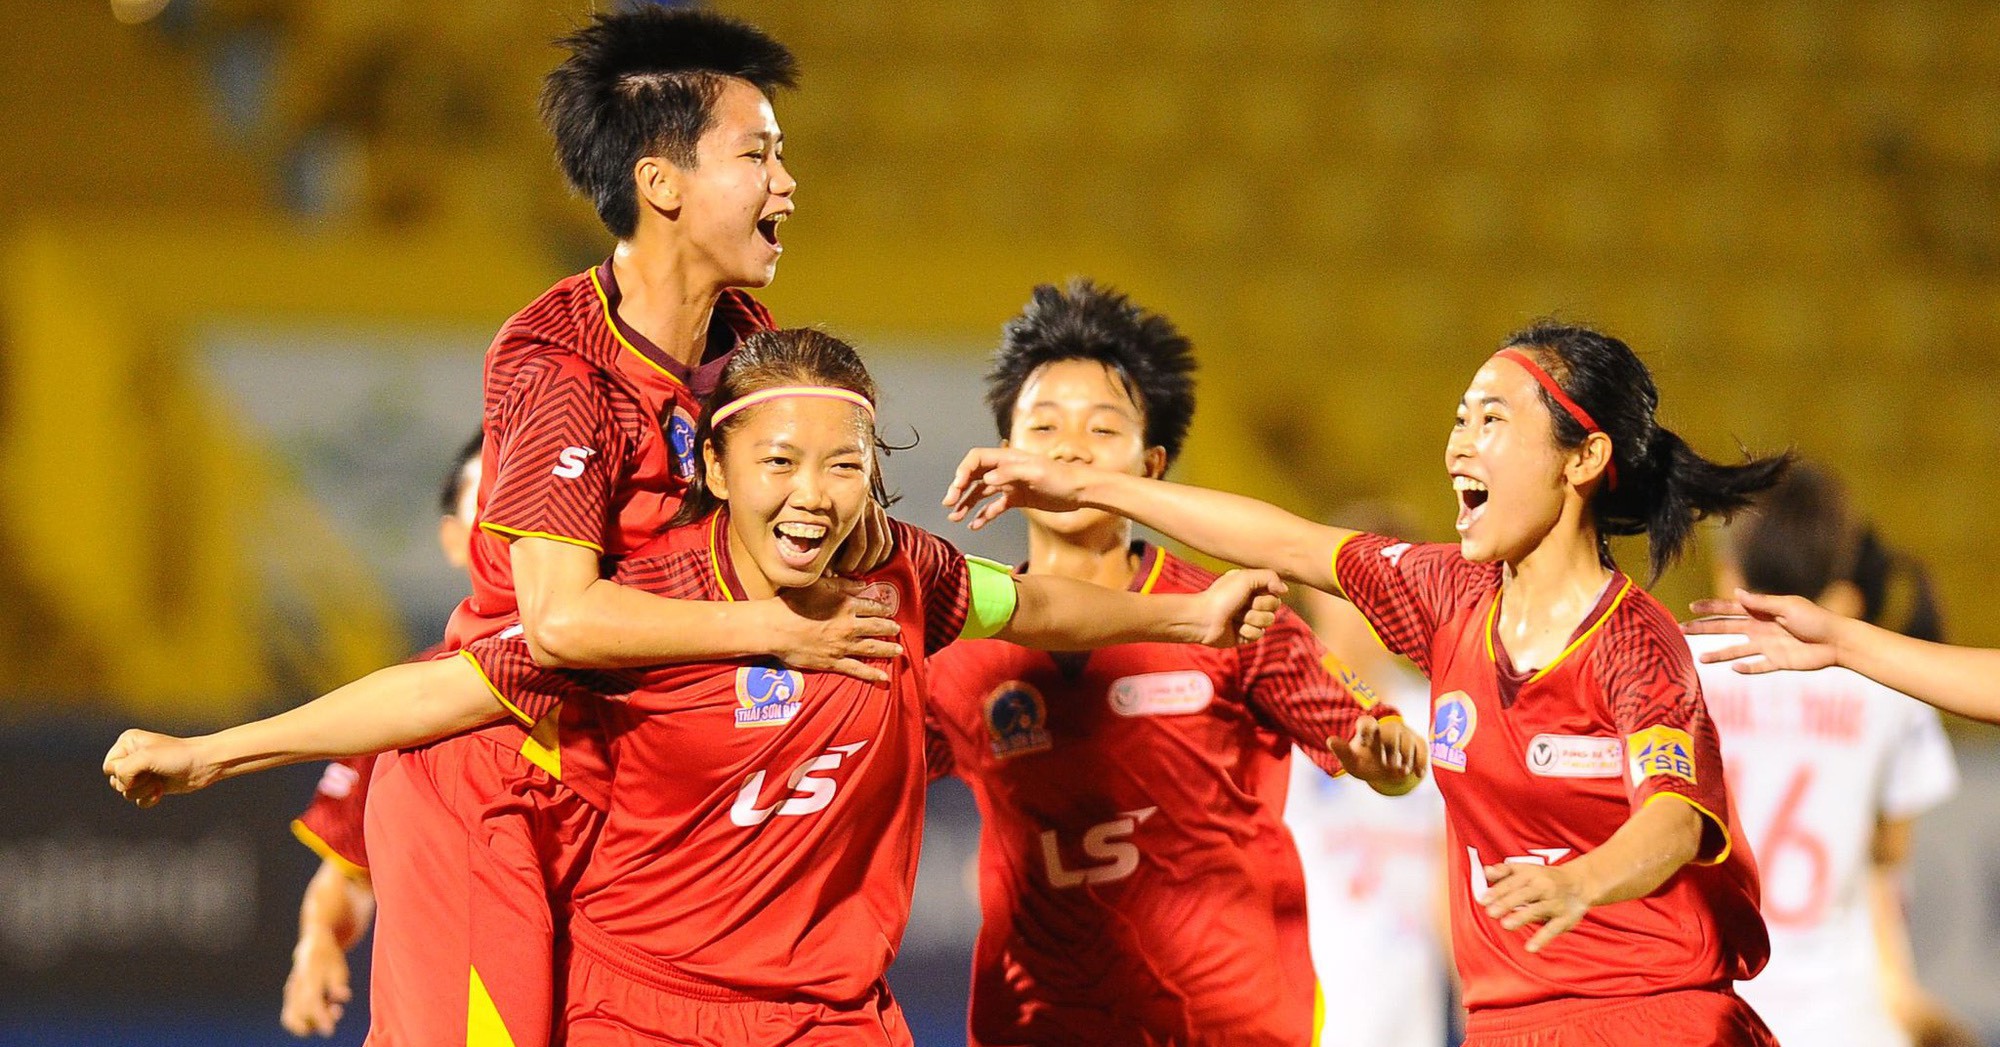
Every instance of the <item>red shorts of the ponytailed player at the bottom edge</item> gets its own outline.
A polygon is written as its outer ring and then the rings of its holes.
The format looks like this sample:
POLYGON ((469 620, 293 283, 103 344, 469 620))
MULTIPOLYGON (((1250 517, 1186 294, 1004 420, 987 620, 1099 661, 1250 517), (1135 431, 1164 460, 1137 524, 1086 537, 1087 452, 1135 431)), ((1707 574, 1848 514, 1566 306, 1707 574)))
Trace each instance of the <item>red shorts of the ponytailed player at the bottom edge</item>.
POLYGON ((1778 1047, 1764 1019, 1730 989, 1652 997, 1552 999, 1476 1011, 1464 1047, 1778 1047))

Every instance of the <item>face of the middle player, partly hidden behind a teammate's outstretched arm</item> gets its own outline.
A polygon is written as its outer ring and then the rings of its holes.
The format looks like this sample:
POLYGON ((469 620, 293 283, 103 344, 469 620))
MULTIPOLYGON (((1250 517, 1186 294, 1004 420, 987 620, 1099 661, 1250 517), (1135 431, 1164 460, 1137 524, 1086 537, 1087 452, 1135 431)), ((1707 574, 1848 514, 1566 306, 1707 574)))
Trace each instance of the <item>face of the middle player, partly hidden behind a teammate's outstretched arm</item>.
MULTIPOLYGON (((1146 412, 1126 384, 1094 360, 1056 360, 1028 376, 1014 400, 1008 446, 1132 476, 1166 472, 1166 450, 1146 446, 1146 412)), ((1028 520, 1056 533, 1082 533, 1116 522, 1100 510, 1048 514, 1026 510, 1028 520)))

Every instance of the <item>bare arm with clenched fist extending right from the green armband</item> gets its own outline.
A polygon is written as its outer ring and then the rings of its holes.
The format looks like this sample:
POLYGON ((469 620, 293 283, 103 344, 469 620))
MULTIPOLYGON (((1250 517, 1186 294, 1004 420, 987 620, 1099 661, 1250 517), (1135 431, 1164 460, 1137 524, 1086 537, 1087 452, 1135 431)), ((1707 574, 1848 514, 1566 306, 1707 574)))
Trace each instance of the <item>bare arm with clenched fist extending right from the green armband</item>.
POLYGON ((1014 613, 994 635, 1044 651, 1116 643, 1248 643, 1278 619, 1284 583, 1270 571, 1230 571, 1202 593, 1138 595, 1072 577, 1016 579, 1014 613))

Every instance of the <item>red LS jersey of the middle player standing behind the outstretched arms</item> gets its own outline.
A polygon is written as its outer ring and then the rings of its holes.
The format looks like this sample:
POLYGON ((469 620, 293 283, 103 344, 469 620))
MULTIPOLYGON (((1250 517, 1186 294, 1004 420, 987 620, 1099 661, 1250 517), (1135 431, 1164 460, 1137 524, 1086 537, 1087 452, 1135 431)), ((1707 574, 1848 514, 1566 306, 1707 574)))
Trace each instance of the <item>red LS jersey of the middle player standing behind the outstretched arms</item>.
MULTIPOLYGON (((1216 577, 1134 549, 1136 591, 1216 577)), ((1342 685, 1298 615, 1238 649, 962 641, 930 671, 930 771, 982 819, 974 1043, 1312 1039, 1290 751, 1338 773, 1326 739, 1394 709, 1342 685)))

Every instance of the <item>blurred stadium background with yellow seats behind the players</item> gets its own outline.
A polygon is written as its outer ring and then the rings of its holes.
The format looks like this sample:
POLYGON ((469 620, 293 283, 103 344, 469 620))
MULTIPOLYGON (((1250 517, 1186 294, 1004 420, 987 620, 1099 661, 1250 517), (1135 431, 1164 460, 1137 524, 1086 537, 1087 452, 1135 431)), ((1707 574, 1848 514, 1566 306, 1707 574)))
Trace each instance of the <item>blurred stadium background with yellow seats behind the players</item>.
MULTIPOLYGON (((1636 346, 1696 448, 1842 472, 1952 639, 2000 645, 1996 4, 716 6, 800 56, 764 298, 868 352, 890 436, 920 436, 890 462, 912 522, 942 527, 992 440, 982 354, 1036 282, 1100 278, 1194 338, 1182 480, 1396 502, 1416 537, 1450 533, 1466 378, 1558 314, 1636 346)), ((96 763, 118 727, 278 709, 440 633, 464 581, 434 490, 486 342, 610 246, 534 118, 590 10, 6 4, 0 1041, 288 1041, 316 859, 284 825, 316 769, 142 815, 96 763)), ((1656 591, 1706 585, 1696 555, 1656 591)), ((2000 749, 1954 739, 1912 925, 2000 1043, 2000 749)), ((896 973, 922 1043, 962 1039, 972 825, 940 785, 896 973)))

